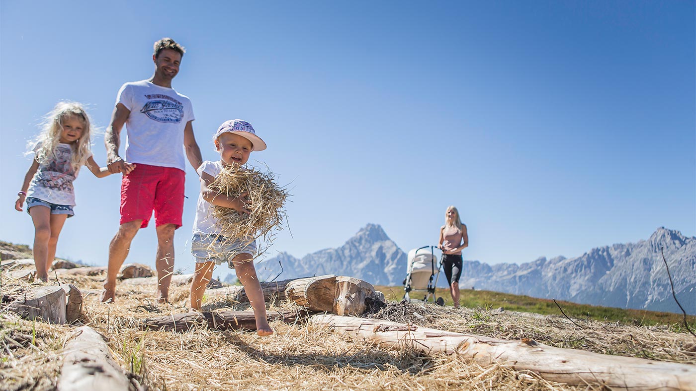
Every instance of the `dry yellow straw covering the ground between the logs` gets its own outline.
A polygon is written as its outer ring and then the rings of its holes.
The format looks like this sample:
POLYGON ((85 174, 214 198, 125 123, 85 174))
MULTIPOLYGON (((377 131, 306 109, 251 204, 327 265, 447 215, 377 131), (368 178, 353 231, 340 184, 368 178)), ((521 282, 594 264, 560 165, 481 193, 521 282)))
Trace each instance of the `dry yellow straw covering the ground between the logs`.
MULTIPOLYGON (((481 367, 459 356, 420 356, 379 349, 343 337, 324 326, 273 322, 276 334, 215 331, 203 326, 185 333, 145 331, 143 319, 189 311, 189 286, 173 286, 172 303, 154 299, 155 285, 120 282, 116 303, 99 303, 104 276, 58 276, 84 296, 79 324, 108 336, 113 356, 132 378, 132 390, 592 390, 544 381, 505 365, 481 367)), ((55 276, 48 284, 55 283, 55 276)), ((3 301, 40 284, 2 275, 3 301)), ((272 310, 295 308, 271 303, 272 310)), ((204 310, 247 309, 248 304, 211 301, 204 310)), ((373 316, 395 322, 487 335, 530 338, 565 347, 696 364, 696 339, 669 325, 541 316, 487 308, 443 308, 388 303, 373 316)), ((75 326, 20 319, 0 310, 0 389, 54 390, 65 340, 75 326)))

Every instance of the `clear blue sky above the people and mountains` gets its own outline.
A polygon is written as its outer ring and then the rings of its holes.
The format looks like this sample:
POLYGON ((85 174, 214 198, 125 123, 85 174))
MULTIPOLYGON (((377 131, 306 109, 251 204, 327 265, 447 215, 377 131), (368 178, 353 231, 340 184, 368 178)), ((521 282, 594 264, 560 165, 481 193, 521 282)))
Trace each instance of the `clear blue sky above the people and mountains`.
MULTIPOLYGON (((152 42, 185 47, 204 158, 226 119, 290 183, 273 251, 338 247, 367 223, 404 251, 434 244, 450 204, 465 259, 523 263, 696 235, 694 1, 1 1, 0 239, 31 244, 13 210, 22 155, 56 101, 108 125, 122 83, 152 75, 152 42)), ((103 136, 95 158, 104 163, 103 136)), ((104 265, 120 176, 83 170, 58 256, 104 265)), ((177 267, 198 196, 187 171, 177 267)), ((128 261, 152 265, 155 231, 128 261)))

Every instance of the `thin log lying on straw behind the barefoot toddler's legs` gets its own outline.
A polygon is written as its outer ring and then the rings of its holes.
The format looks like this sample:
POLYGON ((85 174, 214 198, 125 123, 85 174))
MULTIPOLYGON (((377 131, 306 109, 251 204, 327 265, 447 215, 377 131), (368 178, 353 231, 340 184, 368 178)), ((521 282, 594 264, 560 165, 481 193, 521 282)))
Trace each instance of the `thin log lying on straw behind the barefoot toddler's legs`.
MULTIPOLYGON (((299 317, 296 312, 268 311, 267 318, 270 321, 280 320, 285 323, 294 323, 308 314, 301 314, 299 317)), ((205 324, 209 328, 216 330, 256 330, 256 319, 253 311, 221 311, 204 313, 184 313, 152 317, 145 319, 143 327, 151 330, 164 331, 188 331, 196 325, 205 324)))

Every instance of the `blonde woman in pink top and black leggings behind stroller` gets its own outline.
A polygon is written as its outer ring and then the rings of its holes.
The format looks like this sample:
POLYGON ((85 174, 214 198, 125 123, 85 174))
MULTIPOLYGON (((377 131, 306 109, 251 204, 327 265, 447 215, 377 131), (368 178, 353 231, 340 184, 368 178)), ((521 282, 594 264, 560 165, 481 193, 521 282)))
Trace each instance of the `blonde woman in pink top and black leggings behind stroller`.
POLYGON ((450 206, 445 212, 445 225, 440 228, 438 249, 442 250, 442 265, 445 269, 447 283, 454 307, 459 307, 459 277, 461 277, 461 250, 469 246, 466 225, 461 224, 459 210, 450 206))

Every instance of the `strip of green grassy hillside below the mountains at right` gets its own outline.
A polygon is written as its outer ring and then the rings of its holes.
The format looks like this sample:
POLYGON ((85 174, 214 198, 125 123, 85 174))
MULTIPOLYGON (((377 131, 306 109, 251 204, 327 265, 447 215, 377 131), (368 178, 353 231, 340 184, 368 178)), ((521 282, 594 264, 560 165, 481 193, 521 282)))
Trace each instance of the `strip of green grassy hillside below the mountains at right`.
MULTIPOLYGON (((404 297, 404 288, 376 286, 377 290, 384 293, 386 299, 399 301, 404 297)), ((449 290, 437 288, 436 297, 445 299, 445 305, 452 306, 452 297, 449 290)), ((412 299, 422 299, 425 291, 414 290, 412 299)), ((492 292, 489 290, 461 290, 461 305, 467 308, 503 308, 506 311, 518 311, 525 313, 538 313, 542 315, 562 315, 558 306, 550 299, 537 299, 536 297, 519 296, 516 294, 492 292)), ((675 313, 661 313, 649 310, 631 310, 623 308, 611 308, 590 306, 587 304, 559 301, 566 315, 571 318, 594 319, 605 322, 621 322, 634 326, 654 326, 656 324, 669 324, 673 331, 686 331, 683 324, 683 315, 675 313)), ((692 330, 696 329, 696 317, 687 316, 687 322, 692 330)))

